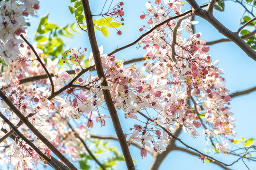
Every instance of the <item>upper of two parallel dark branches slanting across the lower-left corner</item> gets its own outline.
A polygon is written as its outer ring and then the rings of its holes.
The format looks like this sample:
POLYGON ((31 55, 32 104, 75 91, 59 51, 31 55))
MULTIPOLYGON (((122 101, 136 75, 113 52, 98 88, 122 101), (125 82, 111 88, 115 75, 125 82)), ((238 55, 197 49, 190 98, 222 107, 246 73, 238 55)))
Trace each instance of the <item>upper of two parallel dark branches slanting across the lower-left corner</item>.
MULTIPOLYGON (((53 152, 55 155, 71 169, 77 170, 77 168, 50 142, 43 136, 36 127, 34 127, 28 119, 17 109, 17 107, 8 99, 8 97, 0 91, 0 97, 9 106, 9 108, 18 116, 18 118, 27 125, 27 127, 53 152)), ((12 127, 13 128, 13 127, 12 127)), ((13 129, 14 130, 14 129, 13 129)))

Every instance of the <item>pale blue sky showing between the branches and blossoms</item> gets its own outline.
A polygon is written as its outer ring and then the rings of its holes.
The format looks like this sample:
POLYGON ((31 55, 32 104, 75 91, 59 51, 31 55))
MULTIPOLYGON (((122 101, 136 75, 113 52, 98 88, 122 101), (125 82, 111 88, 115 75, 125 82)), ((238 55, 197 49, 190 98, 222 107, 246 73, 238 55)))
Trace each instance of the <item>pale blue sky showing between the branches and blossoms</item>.
MULTIPOLYGON (((109 0, 110 1, 110 0, 109 0)), ((139 16, 143 11, 146 11, 145 3, 148 0, 124 0, 124 26, 121 26, 119 29, 122 31, 122 35, 117 35, 116 30, 110 30, 109 37, 104 37, 100 32, 96 33, 97 41, 99 46, 103 45, 104 53, 109 53, 117 48, 117 45, 123 46, 130 42, 133 42, 141 32, 138 31, 138 28, 143 24, 146 25, 146 19, 142 20, 139 16)), ((199 1, 199 0, 198 0, 199 1)), ((72 3, 69 3, 69 0, 42 0, 40 2, 40 9, 38 11, 38 18, 30 18, 31 27, 28 29, 28 37, 33 39, 40 17, 46 15, 46 13, 50 12, 49 21, 50 23, 58 24, 59 26, 64 26, 67 23, 75 22, 74 16, 72 16, 69 12, 68 6, 72 6, 72 3)), ((91 11, 93 14, 98 14, 101 12, 101 8, 105 0, 90 0, 91 2, 91 11)), ((117 0, 113 1, 113 4, 116 4, 117 0)), ((206 3, 207 0, 200 0, 200 5, 206 3)), ((214 15, 220 22, 222 22, 226 27, 228 27, 232 31, 236 31, 239 28, 239 19, 243 15, 244 10, 240 8, 238 4, 235 4, 231 1, 226 1, 225 12, 214 11, 214 15)), ((189 5, 186 5, 186 8, 189 8, 189 5)), ((184 11, 184 10, 183 10, 184 11)), ((198 25, 196 25, 196 32, 202 33, 202 39, 206 39, 208 41, 217 40, 219 38, 223 38, 224 36, 219 34, 219 32, 210 24, 203 21, 201 18, 196 17, 196 20, 200 21, 198 25)), ((77 36, 73 39, 65 38, 66 47, 71 48, 79 48, 79 47, 87 47, 89 56, 90 44, 87 37, 87 34, 76 34, 77 36)), ((144 50, 137 50, 136 45, 132 46, 124 51, 120 51, 115 54, 118 59, 133 59, 142 57, 145 54, 144 50)), ((210 46, 209 54, 211 55, 211 59, 217 60, 219 59, 218 67, 224 69, 223 77, 226 78, 226 88, 228 88, 231 92, 242 90, 249 88, 251 86, 256 85, 256 62, 246 54, 241 51, 236 44, 233 42, 222 42, 213 46, 210 46)), ((237 136, 234 138, 240 138, 243 136, 245 138, 256 138, 256 133, 254 133, 255 128, 255 111, 256 104, 256 93, 251 93, 245 96, 236 97, 231 101, 231 111, 234 113, 233 117, 236 119, 235 130, 237 132, 237 136)), ((122 124, 126 124, 127 119, 123 119, 123 115, 119 112, 120 121, 122 124)), ((100 126, 96 125, 91 131, 96 134, 114 134, 113 127, 111 126, 110 119, 107 119, 107 126, 100 128, 100 126)), ((124 132, 129 133, 129 127, 124 126, 124 132)), ((183 133, 181 138, 187 144, 203 151, 206 149, 206 142, 204 140, 204 136, 201 135, 198 139, 193 139, 188 134, 183 133)), ((117 142, 111 142, 110 144, 115 145, 119 148, 119 144, 117 142)), ((131 147, 132 157, 137 161, 136 167, 138 170, 146 170, 152 162, 152 157, 147 156, 142 159, 139 155, 139 150, 137 148, 131 147)), ((220 161, 224 161, 226 163, 231 163, 235 160, 234 157, 228 155, 214 155, 220 161)), ((256 169, 255 162, 248 162, 248 167, 253 170, 256 169)), ((181 152, 173 152, 167 156, 164 163, 161 165, 160 170, 165 169, 208 169, 208 170, 221 170, 218 166, 202 163, 198 160, 197 157, 190 156, 186 153, 181 152)), ((126 169, 125 164, 122 163, 115 167, 117 170, 126 169)), ((234 170, 242 170, 246 169, 245 165, 242 161, 239 161, 234 166, 230 167, 234 170)))

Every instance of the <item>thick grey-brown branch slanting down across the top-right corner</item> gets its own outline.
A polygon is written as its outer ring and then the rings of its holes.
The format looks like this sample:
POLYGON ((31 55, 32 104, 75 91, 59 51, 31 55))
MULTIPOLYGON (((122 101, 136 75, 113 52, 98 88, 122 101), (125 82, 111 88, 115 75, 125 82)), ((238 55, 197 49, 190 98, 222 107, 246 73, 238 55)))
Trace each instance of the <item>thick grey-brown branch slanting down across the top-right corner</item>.
POLYGON ((193 8, 192 13, 208 21, 219 31, 219 33, 229 38, 232 42, 235 42, 241 50, 243 50, 251 59, 256 61, 256 51, 253 50, 238 34, 233 33, 227 27, 223 26, 219 20, 208 11, 201 9, 195 0, 187 0, 187 2, 189 2, 193 8))

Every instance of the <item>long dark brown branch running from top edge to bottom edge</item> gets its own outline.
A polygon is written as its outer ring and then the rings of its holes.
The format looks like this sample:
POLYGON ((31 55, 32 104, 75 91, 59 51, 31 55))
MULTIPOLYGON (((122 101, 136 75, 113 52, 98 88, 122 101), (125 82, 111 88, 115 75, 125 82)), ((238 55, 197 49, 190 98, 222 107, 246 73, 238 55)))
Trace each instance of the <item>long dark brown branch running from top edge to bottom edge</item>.
MULTIPOLYGON (((82 0, 82 7, 83 7, 85 20, 86 20, 86 24, 87 24, 88 36, 89 36, 89 40, 90 40, 90 44, 91 44, 91 50, 92 50, 93 58, 95 61, 95 68, 96 68, 97 74, 99 76, 99 79, 103 78, 103 82, 101 83, 101 85, 108 86, 108 82, 106 80, 106 77, 104 75, 104 71, 102 68, 101 55, 100 55, 100 51, 98 49, 98 44, 97 44, 97 40, 96 40, 96 36, 95 36, 95 32, 94 32, 94 26, 93 26, 93 22, 92 22, 92 15, 91 15, 91 9, 90 9, 90 5, 89 5, 89 0, 82 0)), ((117 110, 112 101, 110 91, 109 90, 102 90, 102 91, 103 91, 106 105, 110 112, 113 126, 115 128, 117 137, 119 139, 119 144, 121 146, 121 149, 122 149, 125 161, 126 161, 127 168, 128 168, 128 170, 135 170, 135 166, 134 166, 131 154, 129 152, 126 138, 124 136, 124 133, 123 133, 123 130, 122 130, 119 118, 118 118, 117 110)))

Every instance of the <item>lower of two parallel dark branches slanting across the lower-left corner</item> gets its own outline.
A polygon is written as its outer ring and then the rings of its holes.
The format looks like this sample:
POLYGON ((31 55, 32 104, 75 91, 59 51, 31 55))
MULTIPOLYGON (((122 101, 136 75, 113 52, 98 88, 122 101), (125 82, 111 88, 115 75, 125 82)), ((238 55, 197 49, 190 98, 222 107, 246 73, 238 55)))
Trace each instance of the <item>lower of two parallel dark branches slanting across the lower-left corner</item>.
MULTIPOLYGON (((2 93, 2 92, 0 92, 2 93)), ((18 134, 18 136, 24 140, 28 145, 30 145, 35 152, 37 152, 42 158, 44 158, 55 170, 63 170, 61 167, 55 164, 48 156, 46 156, 44 153, 42 153, 37 146, 35 146, 30 140, 27 139, 26 136, 24 136, 21 132, 19 132, 18 128, 16 128, 1 112, 0 117, 18 134)))

